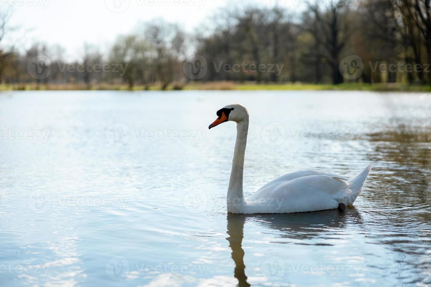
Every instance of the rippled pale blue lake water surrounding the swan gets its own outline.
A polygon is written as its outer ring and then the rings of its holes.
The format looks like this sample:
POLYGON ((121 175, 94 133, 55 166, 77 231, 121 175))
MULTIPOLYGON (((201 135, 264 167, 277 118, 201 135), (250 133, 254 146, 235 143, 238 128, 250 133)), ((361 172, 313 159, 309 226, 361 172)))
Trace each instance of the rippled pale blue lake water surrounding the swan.
POLYGON ((0 137, 1 286, 431 284, 431 94, 3 92, 0 137), (354 208, 227 214, 233 102, 246 195, 373 163, 354 208))

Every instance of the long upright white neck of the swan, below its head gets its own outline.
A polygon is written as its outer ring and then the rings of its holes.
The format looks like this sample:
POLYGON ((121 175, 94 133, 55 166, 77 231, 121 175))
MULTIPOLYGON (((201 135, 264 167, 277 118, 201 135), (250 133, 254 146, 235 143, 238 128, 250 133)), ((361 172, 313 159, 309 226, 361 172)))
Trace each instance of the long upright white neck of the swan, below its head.
POLYGON ((244 207, 243 192, 244 156, 247 145, 248 118, 237 123, 237 140, 235 142, 234 160, 231 179, 229 180, 227 207, 228 212, 235 213, 244 207))

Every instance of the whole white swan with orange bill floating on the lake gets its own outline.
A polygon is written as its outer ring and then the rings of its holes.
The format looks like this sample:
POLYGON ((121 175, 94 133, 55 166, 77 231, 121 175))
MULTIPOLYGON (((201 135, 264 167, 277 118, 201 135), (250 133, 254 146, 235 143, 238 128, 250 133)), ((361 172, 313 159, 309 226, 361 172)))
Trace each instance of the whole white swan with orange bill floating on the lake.
POLYGON ((262 186, 249 198, 244 198, 243 172, 249 114, 240 104, 227 105, 217 111, 218 118, 209 129, 227 121, 237 123, 237 139, 227 208, 230 213, 292 213, 335 209, 353 204, 371 170, 370 164, 352 179, 314 170, 287 173, 262 186))

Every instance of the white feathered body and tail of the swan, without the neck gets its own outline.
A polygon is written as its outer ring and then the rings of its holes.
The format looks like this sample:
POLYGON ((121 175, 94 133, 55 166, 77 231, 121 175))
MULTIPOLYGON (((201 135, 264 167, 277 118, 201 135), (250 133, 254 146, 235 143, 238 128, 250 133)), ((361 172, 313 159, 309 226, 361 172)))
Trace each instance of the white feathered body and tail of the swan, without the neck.
POLYGON ((247 198, 244 213, 305 212, 353 204, 371 168, 370 164, 350 180, 313 170, 288 173, 247 198))

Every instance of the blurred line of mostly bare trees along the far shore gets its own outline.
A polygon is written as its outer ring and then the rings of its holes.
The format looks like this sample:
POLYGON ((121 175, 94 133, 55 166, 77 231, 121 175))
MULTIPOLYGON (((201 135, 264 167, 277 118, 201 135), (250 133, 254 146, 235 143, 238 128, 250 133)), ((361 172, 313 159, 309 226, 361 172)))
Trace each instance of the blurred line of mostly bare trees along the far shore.
POLYGON ((72 63, 59 45, 34 43, 25 52, 2 48, 3 35, 14 33, 7 31, 10 14, 3 12, 0 82, 158 84, 162 89, 190 81, 431 84, 430 0, 324 2, 308 3, 300 13, 257 4, 228 6, 194 33, 153 19, 117 37, 105 54, 84 44, 81 59, 72 63), (34 68, 50 72, 38 78, 28 70, 41 55, 48 60, 34 68), (199 79, 184 73, 184 60, 192 55, 206 61, 199 79), (356 69, 361 72, 353 77, 356 69))

